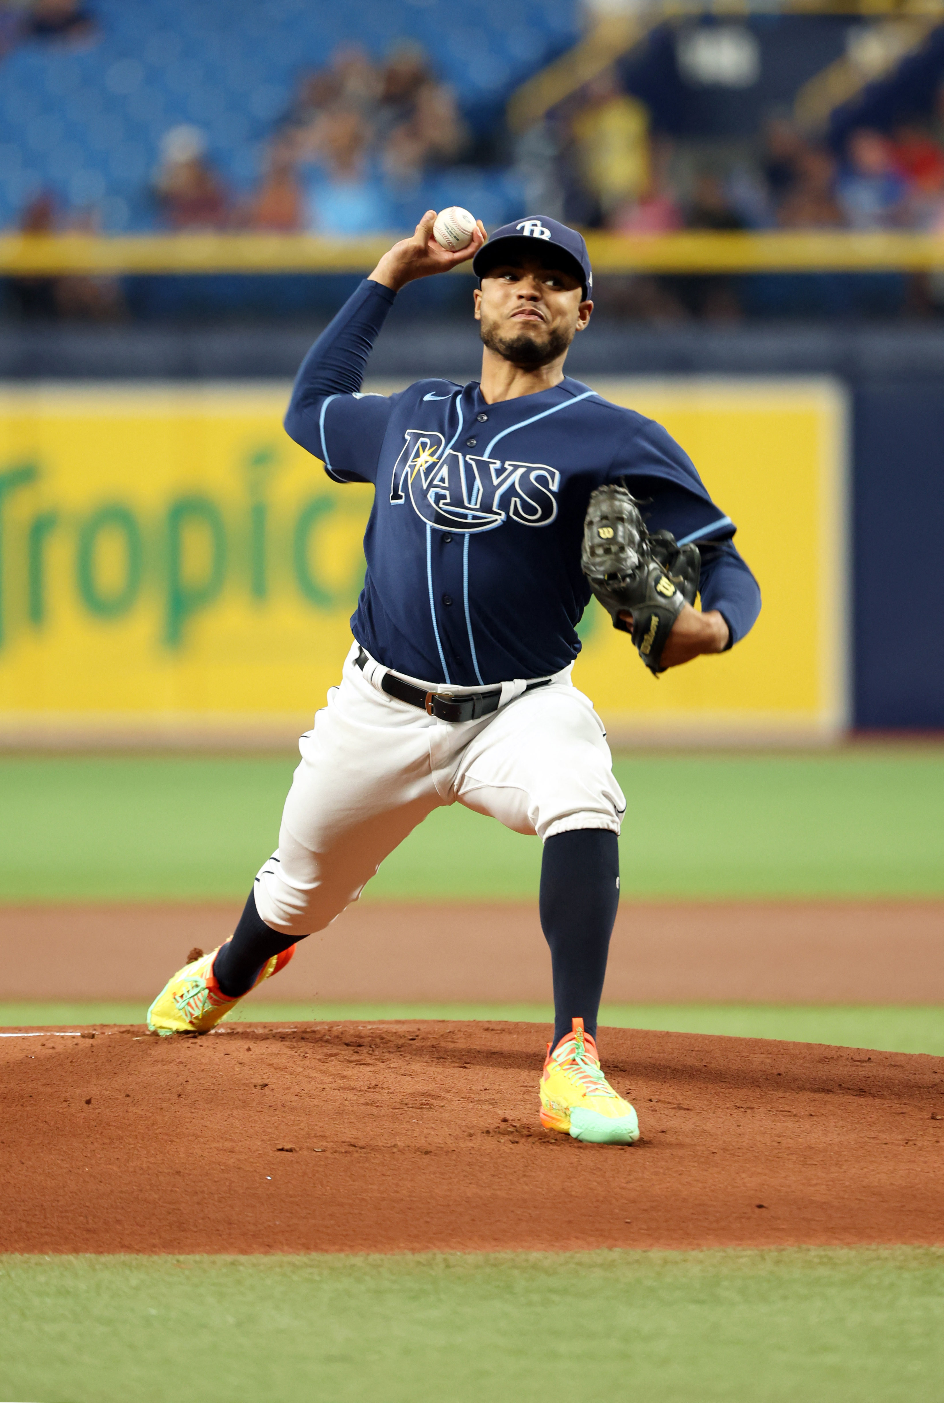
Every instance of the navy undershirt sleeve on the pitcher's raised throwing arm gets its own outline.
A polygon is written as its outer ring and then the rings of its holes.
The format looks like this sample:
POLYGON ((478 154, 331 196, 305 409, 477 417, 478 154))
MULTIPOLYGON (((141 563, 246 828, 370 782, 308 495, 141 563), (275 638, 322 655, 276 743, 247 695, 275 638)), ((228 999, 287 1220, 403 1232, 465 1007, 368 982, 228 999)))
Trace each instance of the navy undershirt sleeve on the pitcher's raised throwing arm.
POLYGON ((302 362, 285 415, 285 428, 293 439, 304 442, 306 421, 325 396, 356 394, 360 389, 368 356, 394 296, 389 288, 365 279, 314 342, 302 362))

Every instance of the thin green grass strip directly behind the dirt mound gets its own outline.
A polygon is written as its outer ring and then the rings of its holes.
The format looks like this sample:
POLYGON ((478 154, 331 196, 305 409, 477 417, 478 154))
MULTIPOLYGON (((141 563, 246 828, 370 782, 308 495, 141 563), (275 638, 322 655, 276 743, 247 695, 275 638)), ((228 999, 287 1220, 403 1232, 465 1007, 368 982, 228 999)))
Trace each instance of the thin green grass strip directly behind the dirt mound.
MULTIPOLYGON (((534 1003, 254 1003, 237 1009, 238 1023, 307 1023, 311 1019, 481 1019, 551 1023, 550 1005, 534 1003)), ((0 1003, 0 1027, 81 1027, 86 1023, 143 1023, 142 1003, 0 1003)), ((600 1024, 666 1028, 736 1038, 783 1038, 885 1052, 944 1056, 944 1009, 788 1005, 605 1005, 600 1024)))

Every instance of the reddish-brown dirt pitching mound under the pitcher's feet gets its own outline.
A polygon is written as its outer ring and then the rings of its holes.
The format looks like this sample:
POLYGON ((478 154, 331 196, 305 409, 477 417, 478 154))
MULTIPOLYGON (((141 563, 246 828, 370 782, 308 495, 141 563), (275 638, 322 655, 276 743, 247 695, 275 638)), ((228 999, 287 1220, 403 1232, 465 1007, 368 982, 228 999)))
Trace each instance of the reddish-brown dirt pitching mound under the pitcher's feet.
POLYGON ((0 1250, 944 1243, 944 1059, 602 1030, 631 1149, 537 1120, 516 1023, 0 1040, 0 1250))

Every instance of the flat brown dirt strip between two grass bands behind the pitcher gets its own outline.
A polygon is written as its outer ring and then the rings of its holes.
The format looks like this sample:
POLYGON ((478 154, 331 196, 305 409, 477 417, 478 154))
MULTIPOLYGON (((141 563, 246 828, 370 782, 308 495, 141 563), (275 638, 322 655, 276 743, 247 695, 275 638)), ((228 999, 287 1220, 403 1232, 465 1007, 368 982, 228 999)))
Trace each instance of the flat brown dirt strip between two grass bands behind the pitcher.
MULTIPOLYGON (((226 904, 0 906, 0 999, 139 999, 191 946, 238 920, 226 904)), ((940 901, 624 901, 609 1003, 944 1003, 940 901)), ((359 902, 309 936, 265 1000, 546 1003, 537 902, 359 902)), ((314 1010, 313 1010, 314 1012, 314 1010)))

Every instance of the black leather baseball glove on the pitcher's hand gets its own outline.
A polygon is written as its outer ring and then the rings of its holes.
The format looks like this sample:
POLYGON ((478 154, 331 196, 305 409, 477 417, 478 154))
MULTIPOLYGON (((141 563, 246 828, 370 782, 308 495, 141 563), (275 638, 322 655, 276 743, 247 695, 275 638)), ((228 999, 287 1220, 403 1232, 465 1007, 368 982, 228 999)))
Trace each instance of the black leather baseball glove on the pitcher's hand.
POLYGON ((633 634, 642 662, 658 676, 672 626, 699 592, 699 547, 677 546, 668 530, 649 533, 626 487, 607 484, 591 494, 581 567, 613 627, 633 634))

